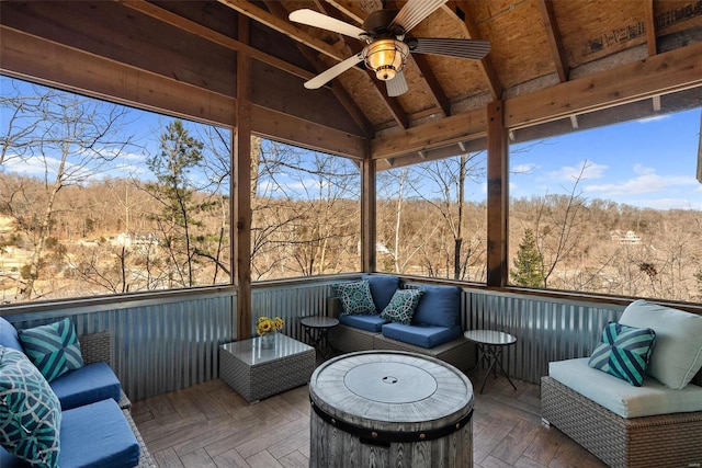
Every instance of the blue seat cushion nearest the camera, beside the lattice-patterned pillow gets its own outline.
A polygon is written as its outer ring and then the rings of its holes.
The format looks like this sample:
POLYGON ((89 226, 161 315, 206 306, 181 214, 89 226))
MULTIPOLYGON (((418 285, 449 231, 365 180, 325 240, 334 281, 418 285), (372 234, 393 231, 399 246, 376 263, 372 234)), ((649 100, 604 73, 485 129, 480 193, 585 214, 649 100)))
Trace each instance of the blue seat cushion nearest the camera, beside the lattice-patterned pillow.
POLYGON ((60 441, 61 468, 133 467, 139 463, 139 443, 112 399, 64 411, 60 441))

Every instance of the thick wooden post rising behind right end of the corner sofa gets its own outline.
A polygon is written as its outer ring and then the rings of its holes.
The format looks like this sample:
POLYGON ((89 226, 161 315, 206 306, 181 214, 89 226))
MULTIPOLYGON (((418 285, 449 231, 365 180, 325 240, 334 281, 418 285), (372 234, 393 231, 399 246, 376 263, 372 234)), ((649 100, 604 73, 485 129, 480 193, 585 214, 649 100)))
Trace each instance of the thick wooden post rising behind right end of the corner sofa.
POLYGON ((507 284, 509 237, 509 160, 508 132, 503 124, 502 101, 487 105, 487 284, 507 284))

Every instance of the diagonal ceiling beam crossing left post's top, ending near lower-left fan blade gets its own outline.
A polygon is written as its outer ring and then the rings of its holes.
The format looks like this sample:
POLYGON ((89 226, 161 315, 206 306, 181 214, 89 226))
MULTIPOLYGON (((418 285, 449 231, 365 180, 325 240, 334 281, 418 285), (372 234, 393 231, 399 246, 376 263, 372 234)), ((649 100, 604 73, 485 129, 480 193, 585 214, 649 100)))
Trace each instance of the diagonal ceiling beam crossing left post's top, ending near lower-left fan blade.
POLYGON ((312 71, 305 70, 304 68, 297 67, 288 61, 274 57, 254 47, 251 47, 248 44, 242 44, 237 39, 234 39, 229 36, 225 36, 224 34, 217 33, 216 31, 213 31, 208 27, 205 27, 193 21, 190 21, 176 13, 171 13, 170 11, 165 10, 161 7, 158 7, 154 3, 149 3, 146 0, 115 0, 115 1, 118 3, 122 3, 124 7, 131 8, 132 10, 138 11, 156 20, 162 21, 163 23, 170 24, 183 31, 188 31, 191 34, 194 34, 196 36, 211 41, 215 44, 219 44, 220 46, 226 47, 230 50, 249 54, 253 59, 257 59, 263 64, 270 65, 280 70, 286 71, 291 75, 303 78, 305 80, 309 80, 315 76, 315 73, 313 73, 312 71))

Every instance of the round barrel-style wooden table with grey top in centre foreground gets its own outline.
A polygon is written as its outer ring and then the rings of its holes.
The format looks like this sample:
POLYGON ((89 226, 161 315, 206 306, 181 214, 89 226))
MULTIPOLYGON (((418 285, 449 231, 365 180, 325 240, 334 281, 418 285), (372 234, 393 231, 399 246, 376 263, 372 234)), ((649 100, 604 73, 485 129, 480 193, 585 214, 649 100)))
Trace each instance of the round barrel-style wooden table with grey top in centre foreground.
POLYGON ((309 383, 310 467, 473 466, 473 386, 433 357, 364 351, 309 383))

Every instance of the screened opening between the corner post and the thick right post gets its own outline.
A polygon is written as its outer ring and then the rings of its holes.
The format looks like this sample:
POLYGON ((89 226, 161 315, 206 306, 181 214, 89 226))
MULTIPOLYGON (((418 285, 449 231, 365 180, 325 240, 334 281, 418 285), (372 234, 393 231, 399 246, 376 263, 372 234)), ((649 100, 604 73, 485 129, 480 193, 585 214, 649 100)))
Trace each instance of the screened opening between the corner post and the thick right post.
POLYGON ((485 152, 377 174, 377 270, 485 282, 485 152))

